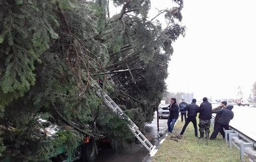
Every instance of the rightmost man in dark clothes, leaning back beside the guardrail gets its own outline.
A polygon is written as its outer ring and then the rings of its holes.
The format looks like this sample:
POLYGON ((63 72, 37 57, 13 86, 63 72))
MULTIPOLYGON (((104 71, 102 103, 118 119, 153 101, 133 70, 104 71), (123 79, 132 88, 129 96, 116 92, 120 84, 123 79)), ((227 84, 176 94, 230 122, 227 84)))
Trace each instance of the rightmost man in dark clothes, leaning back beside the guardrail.
MULTIPOLYGON (((227 108, 222 108, 221 110, 214 110, 212 113, 220 114, 219 119, 216 122, 216 129, 213 130, 210 140, 214 140, 220 130, 229 130, 229 122, 234 117, 234 112, 232 111, 233 105, 228 105, 227 108)), ((225 138, 225 136, 223 137, 225 138)))

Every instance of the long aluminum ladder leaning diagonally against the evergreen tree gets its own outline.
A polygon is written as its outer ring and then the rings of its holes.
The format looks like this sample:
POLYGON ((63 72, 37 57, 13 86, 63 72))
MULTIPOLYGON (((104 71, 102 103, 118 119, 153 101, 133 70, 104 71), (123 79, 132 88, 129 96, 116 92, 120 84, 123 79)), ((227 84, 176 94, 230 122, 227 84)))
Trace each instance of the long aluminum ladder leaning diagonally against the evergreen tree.
POLYGON ((126 122, 127 126, 132 131, 132 134, 134 134, 142 145, 144 145, 144 147, 150 151, 150 154, 153 153, 153 151, 156 149, 156 145, 152 145, 152 143, 148 141, 144 134, 140 132, 138 126, 136 126, 136 124, 134 124, 134 122, 132 122, 132 120, 130 120, 130 118, 124 114, 122 109, 116 104, 116 102, 112 101, 112 99, 102 90, 96 81, 92 80, 92 84, 97 89, 96 95, 103 99, 104 103, 112 110, 112 112, 118 114, 118 116, 126 122))

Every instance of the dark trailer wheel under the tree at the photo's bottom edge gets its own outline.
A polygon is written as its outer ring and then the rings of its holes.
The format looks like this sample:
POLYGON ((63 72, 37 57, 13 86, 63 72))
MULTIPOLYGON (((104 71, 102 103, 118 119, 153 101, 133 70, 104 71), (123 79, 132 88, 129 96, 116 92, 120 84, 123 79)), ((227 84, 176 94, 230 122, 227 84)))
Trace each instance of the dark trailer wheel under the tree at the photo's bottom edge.
POLYGON ((81 145, 80 162, 94 162, 97 156, 97 148, 94 140, 81 145))

